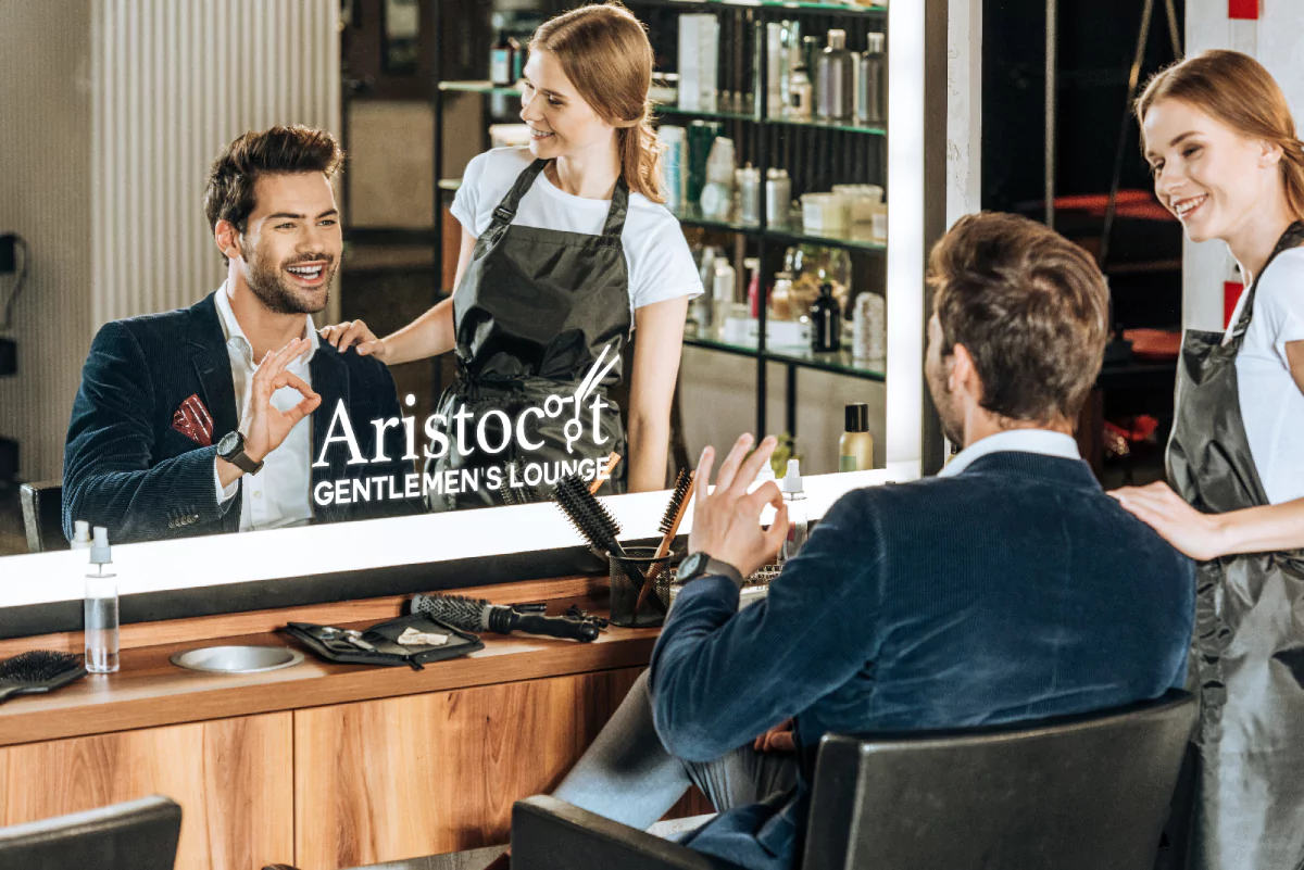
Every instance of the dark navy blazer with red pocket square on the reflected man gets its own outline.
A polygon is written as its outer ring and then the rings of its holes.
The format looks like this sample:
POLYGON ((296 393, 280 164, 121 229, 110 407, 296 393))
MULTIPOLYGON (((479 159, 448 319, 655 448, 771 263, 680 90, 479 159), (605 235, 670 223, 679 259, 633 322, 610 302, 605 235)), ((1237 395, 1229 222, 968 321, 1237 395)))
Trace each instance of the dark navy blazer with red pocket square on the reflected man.
MULTIPOLYGON (((363 456, 373 458, 372 421, 402 418, 389 369, 325 341, 308 369, 313 391, 322 397, 312 415, 313 457, 321 456, 343 401, 363 456)), ((189 309, 106 323, 91 343, 68 425, 64 534, 72 537, 74 520, 106 526, 113 543, 239 531, 244 487, 219 505, 214 478, 216 442, 237 425, 231 358, 214 294, 189 309), (210 447, 172 428, 173 414, 192 395, 213 415, 210 447)), ((402 458, 406 449, 402 426, 386 430, 389 461, 383 462, 348 466, 348 447, 333 443, 329 468, 312 469, 312 483, 393 475, 402 490, 404 475, 415 470, 402 458)), ((403 500, 319 505, 314 499, 313 522, 416 511, 403 500)))

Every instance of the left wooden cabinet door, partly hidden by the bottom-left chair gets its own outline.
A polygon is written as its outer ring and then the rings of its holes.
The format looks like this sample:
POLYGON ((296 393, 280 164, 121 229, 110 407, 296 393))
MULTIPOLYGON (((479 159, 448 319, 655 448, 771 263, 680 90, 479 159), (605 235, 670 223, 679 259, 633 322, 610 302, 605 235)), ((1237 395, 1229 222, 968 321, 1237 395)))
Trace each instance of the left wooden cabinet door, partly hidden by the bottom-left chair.
POLYGON ((0 749, 0 824, 163 794, 176 870, 293 860, 293 722, 279 712, 0 749))

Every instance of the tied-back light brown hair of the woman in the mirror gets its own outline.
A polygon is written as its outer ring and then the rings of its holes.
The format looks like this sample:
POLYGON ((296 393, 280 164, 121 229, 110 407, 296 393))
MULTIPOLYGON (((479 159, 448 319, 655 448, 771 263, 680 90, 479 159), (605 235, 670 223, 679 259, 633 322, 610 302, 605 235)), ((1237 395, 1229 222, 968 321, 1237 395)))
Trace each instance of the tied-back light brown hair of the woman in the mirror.
POLYGON ((652 44, 643 22, 618 3, 580 7, 544 22, 529 48, 556 56, 584 102, 617 128, 615 147, 630 190, 665 202, 648 102, 652 44))

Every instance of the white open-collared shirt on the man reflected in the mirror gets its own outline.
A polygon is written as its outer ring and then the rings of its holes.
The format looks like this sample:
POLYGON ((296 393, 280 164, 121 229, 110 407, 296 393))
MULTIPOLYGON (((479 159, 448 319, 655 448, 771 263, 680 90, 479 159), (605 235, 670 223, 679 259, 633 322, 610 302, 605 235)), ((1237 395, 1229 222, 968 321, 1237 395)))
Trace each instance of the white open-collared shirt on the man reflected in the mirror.
MULTIPOLYGON (((223 284, 216 296, 218 319, 222 322, 222 332, 227 339, 227 356, 231 358, 231 378, 235 382, 236 406, 240 408, 240 431, 244 431, 244 422, 249 418, 249 397, 253 392, 253 376, 258 366, 253 359, 253 345, 245 337, 244 330, 236 320, 235 311, 231 310, 231 301, 227 298, 227 285, 223 284)), ((312 348, 299 358, 286 366, 286 371, 297 375, 309 387, 313 384, 312 372, 308 363, 317 353, 317 330, 313 327, 310 316, 304 315, 304 337, 312 343, 312 348)), ((282 387, 271 395, 271 404, 278 410, 289 410, 300 401, 303 393, 293 387, 282 387)), ((235 498, 236 487, 244 487, 244 498, 240 500, 240 531, 256 531, 259 529, 284 529, 287 526, 303 526, 313 518, 312 505, 312 415, 295 423, 289 435, 263 458, 263 466, 257 474, 241 474, 231 486, 223 488, 222 479, 218 478, 216 461, 214 461, 213 474, 218 486, 218 504, 224 504, 235 498)), ((215 432, 214 438, 222 438, 226 432, 215 432)))

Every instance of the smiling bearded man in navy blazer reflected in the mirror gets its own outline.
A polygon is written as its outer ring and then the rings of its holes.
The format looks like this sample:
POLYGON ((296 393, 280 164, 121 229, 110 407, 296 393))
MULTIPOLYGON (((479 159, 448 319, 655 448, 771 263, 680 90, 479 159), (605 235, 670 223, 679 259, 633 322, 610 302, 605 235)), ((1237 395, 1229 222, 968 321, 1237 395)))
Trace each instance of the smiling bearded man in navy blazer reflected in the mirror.
POLYGON ((76 520, 126 543, 412 512, 404 499, 312 500, 319 479, 413 469, 402 431, 383 426, 359 427, 381 461, 313 466, 338 410, 400 415, 386 366, 335 350, 312 322, 343 249, 331 188, 343 159, 330 133, 304 126, 223 148, 205 211, 226 283, 189 309, 115 320, 95 336, 64 449, 65 534, 76 520))

